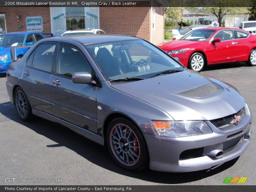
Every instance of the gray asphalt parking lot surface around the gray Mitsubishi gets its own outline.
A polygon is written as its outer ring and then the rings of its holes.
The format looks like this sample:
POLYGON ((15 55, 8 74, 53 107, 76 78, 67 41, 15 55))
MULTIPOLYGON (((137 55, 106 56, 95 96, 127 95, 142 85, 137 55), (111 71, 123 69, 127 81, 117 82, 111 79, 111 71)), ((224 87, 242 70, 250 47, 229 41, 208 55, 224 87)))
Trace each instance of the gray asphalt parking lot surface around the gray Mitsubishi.
MULTIPOLYGON (((201 73, 234 85, 255 119, 256 67, 231 63, 211 66, 201 73)), ((6 183, 7 177, 62 180, 38 183, 50 185, 221 185, 226 177, 248 177, 245 184, 255 184, 255 121, 247 151, 240 158, 211 170, 165 173, 147 168, 127 172, 112 161, 107 149, 59 124, 39 117, 30 122, 21 121, 9 101, 5 82, 6 76, 0 75, 0 185, 33 184, 6 183)))

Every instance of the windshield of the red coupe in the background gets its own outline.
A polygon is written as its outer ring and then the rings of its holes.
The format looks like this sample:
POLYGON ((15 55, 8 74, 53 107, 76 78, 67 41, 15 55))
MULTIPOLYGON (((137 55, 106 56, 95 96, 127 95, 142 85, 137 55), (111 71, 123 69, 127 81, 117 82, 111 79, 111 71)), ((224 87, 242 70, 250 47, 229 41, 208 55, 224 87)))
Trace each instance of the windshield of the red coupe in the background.
POLYGON ((183 36, 182 40, 190 41, 207 41, 216 30, 213 29, 196 29, 183 36))

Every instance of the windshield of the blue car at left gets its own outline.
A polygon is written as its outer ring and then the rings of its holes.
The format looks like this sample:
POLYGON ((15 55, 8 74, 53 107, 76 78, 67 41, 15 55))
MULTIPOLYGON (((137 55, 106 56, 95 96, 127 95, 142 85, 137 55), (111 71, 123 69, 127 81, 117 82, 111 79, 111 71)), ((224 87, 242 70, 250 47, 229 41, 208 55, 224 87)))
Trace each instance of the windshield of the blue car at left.
POLYGON ((0 36, 0 46, 22 46, 25 35, 2 35, 0 36))

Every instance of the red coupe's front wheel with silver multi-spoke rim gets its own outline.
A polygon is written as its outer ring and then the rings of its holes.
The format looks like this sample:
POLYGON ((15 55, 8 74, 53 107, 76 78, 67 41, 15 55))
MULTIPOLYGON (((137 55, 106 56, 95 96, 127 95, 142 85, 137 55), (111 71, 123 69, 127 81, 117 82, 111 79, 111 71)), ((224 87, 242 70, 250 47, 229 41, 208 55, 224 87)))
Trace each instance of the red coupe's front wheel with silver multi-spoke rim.
POLYGON ((205 58, 202 53, 195 52, 189 57, 188 66, 191 70, 200 72, 205 66, 205 58))

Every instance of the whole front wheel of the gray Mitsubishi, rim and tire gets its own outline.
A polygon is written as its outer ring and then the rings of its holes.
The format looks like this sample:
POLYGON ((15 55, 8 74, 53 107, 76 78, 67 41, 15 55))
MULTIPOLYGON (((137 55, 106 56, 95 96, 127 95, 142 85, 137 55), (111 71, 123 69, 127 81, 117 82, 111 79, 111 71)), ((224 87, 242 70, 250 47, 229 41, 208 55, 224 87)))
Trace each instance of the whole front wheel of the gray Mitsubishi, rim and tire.
POLYGON ((106 142, 111 157, 121 167, 139 171, 148 166, 147 144, 139 128, 131 121, 125 118, 112 120, 107 128, 106 142))

